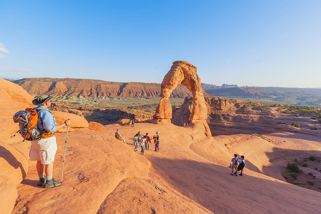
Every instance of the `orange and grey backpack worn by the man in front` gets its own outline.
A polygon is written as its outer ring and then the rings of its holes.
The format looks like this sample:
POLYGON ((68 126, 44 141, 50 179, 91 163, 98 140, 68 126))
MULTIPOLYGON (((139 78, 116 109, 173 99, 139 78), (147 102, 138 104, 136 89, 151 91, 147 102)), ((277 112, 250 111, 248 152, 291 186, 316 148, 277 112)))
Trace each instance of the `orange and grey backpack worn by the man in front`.
MULTIPOLYGON (((38 124, 38 113, 41 111, 49 111, 47 109, 36 110, 34 108, 26 108, 26 110, 18 111, 13 115, 13 122, 19 123, 19 130, 23 140, 40 140, 42 138, 49 138, 54 136, 52 132, 42 133, 45 129, 40 130, 37 127, 38 124)), ((51 111, 49 111, 51 113, 51 111)), ((52 113, 51 113, 52 114, 52 113)), ((15 136, 15 135, 13 135, 15 136)))

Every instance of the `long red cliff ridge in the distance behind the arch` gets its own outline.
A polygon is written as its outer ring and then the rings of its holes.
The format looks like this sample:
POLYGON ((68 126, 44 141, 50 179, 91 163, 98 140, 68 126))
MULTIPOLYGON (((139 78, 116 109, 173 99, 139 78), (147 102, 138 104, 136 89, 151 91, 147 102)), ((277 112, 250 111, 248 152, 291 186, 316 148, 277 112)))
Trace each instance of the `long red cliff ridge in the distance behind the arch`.
MULTIPOLYGON (((84 97, 157 97, 160 95, 158 83, 118 83, 92 79, 24 78, 13 81, 29 94, 54 94, 59 96, 84 97)), ((185 86, 179 85, 171 94, 174 98, 191 96, 185 86)))

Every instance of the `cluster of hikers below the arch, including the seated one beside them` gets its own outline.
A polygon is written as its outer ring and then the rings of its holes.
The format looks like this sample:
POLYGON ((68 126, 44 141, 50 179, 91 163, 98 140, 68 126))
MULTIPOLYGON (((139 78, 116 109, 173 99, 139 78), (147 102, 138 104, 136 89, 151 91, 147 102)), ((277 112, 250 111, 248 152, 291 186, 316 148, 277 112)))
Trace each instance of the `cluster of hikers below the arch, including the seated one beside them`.
MULTIPOLYGON (((118 140, 122 141, 123 143, 126 144, 125 138, 121 136, 119 133, 119 129, 115 132, 115 138, 118 140)), ((154 144, 155 144, 155 152, 159 152, 159 145, 160 145, 160 139, 159 139, 159 133, 158 130, 156 131, 156 134, 153 136, 154 144)), ((152 138, 148 136, 148 133, 146 135, 141 135, 141 132, 139 131, 135 136, 134 136, 134 151, 136 152, 139 147, 142 148, 141 154, 145 155, 145 149, 149 150, 149 145, 152 143, 152 138)))

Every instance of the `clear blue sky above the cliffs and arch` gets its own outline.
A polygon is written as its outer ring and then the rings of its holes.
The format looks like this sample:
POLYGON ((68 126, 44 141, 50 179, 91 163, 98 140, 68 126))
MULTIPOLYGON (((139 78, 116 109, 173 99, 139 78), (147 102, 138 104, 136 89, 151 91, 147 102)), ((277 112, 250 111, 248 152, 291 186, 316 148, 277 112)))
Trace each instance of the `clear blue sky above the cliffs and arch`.
POLYGON ((321 1, 1 1, 0 76, 321 87, 321 1))

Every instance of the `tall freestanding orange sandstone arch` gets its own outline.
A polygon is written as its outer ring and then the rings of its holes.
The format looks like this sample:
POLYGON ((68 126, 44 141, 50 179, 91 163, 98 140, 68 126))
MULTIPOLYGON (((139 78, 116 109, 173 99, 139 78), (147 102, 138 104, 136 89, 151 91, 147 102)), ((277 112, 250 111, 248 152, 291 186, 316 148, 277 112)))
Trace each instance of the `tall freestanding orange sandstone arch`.
POLYGON ((169 124, 172 118, 172 106, 169 96, 179 85, 185 85, 193 94, 193 108, 190 124, 193 126, 203 125, 205 135, 210 137, 211 131, 206 122, 207 108, 205 105, 201 78, 197 75, 194 65, 186 61, 175 61, 169 72, 164 76, 160 89, 160 103, 158 104, 151 123, 169 124))

